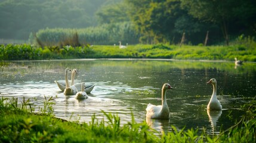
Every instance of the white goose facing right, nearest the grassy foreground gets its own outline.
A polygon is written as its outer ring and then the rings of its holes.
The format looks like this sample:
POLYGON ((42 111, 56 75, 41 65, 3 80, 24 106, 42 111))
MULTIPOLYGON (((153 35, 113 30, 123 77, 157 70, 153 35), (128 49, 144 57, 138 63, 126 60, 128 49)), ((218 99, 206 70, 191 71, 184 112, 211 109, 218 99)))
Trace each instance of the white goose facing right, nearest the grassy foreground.
POLYGON ((166 102, 166 89, 172 89, 171 85, 165 83, 162 87, 162 105, 147 105, 146 117, 152 119, 169 119, 169 107, 166 102))

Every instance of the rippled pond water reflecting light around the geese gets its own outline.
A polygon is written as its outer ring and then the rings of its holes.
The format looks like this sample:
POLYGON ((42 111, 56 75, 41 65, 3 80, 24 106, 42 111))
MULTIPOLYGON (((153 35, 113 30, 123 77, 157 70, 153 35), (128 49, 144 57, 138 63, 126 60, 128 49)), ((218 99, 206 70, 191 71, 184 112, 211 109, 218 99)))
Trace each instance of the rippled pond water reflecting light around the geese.
MULTIPOLYGON (((169 132, 178 129, 218 134, 240 120, 241 107, 255 97, 256 63, 235 67, 227 61, 177 61, 132 59, 83 59, 50 61, 8 61, 0 67, 0 96, 23 97, 33 103, 35 111, 44 108, 45 97, 54 102, 56 117, 79 122, 91 122, 91 116, 107 120, 106 113, 118 114, 121 123, 146 121, 153 129, 169 132), (77 69, 75 82, 95 83, 87 100, 65 96, 54 80, 64 80, 64 69, 77 69), (209 79, 217 79, 217 97, 223 110, 207 112, 212 95, 209 79), (161 89, 167 91, 169 120, 146 120, 147 104, 161 104, 161 89)), ((69 76, 70 77, 70 76, 69 76)))

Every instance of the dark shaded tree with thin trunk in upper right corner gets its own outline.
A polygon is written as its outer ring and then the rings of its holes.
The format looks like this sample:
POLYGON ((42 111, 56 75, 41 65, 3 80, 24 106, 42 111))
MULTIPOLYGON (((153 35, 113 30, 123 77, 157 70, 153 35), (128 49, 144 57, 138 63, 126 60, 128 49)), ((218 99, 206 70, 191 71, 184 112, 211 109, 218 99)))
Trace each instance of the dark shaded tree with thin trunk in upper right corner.
POLYGON ((251 33, 251 31, 248 30, 255 30, 256 28, 255 1, 181 0, 181 5, 184 9, 188 10, 189 14, 193 17, 220 25, 227 45, 229 45, 229 35, 236 34, 238 28, 243 33, 251 33))

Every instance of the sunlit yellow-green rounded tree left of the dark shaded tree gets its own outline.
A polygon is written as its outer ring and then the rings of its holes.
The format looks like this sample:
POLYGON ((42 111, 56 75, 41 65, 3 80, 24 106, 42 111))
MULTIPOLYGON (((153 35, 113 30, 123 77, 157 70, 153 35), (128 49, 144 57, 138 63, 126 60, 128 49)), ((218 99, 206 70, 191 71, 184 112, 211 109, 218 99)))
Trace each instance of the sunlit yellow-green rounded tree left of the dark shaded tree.
POLYGON ((193 35, 202 32, 204 23, 188 15, 186 10, 182 10, 179 0, 127 2, 131 8, 129 10, 131 21, 135 23, 137 31, 143 34, 141 40, 151 43, 177 43, 180 42, 184 32, 194 37, 193 40, 195 37, 200 39, 199 36, 193 35))

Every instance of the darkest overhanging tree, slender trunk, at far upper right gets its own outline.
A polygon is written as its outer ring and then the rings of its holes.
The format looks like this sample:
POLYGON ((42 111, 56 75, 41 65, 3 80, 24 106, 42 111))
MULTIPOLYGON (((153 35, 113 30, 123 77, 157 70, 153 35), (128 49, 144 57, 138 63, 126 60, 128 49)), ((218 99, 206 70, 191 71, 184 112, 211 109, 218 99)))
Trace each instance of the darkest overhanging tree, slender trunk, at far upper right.
MULTIPOLYGON (((208 21, 211 23, 217 23, 220 25, 223 32, 224 39, 226 44, 229 45, 229 27, 230 23, 233 23, 235 20, 244 18, 243 14, 239 14, 239 10, 245 11, 254 11, 253 13, 248 14, 249 18, 255 17, 255 2, 251 0, 180 0, 181 7, 189 11, 189 14, 193 17, 198 18, 199 20, 208 21), (251 8, 245 8, 245 5, 254 5, 251 8), (253 16, 254 15, 254 16, 253 16)), ((245 12, 244 11, 244 12, 245 12)), ((246 19, 247 21, 248 19, 246 19)), ((254 18, 255 25, 255 18, 254 18)))

